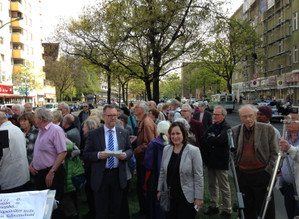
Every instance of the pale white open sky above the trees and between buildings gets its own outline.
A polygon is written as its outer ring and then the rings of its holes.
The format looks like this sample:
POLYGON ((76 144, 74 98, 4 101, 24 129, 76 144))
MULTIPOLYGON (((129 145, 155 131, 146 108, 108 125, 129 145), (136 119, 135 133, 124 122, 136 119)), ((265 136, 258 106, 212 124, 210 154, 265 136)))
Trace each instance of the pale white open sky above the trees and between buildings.
MULTIPOLYGON (((77 18, 81 9, 95 2, 94 0, 44 0, 42 1, 42 24, 43 39, 49 37, 54 32, 56 25, 60 19, 69 17, 77 18)), ((228 9, 231 14, 236 11, 243 0, 227 0, 228 9)))

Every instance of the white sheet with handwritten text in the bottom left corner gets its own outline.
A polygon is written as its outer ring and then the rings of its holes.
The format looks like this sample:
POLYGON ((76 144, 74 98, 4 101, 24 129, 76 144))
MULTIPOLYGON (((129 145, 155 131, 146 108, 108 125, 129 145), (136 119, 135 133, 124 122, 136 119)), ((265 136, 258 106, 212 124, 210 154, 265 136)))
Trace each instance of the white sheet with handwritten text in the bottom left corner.
POLYGON ((43 218, 48 191, 1 194, 0 218, 43 218))

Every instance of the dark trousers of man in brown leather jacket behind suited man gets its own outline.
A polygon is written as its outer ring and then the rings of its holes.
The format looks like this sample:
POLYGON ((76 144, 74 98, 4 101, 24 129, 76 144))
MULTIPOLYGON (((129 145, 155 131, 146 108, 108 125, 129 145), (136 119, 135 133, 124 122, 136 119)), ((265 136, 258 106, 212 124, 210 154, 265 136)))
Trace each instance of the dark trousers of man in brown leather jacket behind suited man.
POLYGON ((149 201, 146 197, 146 192, 143 190, 143 185, 145 181, 145 168, 144 165, 136 164, 136 173, 137 173, 137 198, 139 202, 139 209, 141 212, 149 215, 149 201))

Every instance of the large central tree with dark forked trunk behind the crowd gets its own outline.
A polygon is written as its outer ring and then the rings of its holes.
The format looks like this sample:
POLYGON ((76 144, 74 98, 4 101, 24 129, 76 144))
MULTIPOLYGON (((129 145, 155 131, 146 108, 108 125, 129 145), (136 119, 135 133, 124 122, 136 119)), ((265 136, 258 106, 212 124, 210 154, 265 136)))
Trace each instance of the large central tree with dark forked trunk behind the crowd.
MULTIPOLYGON (((174 64, 200 47, 203 24, 209 10, 202 1, 119 1, 130 13, 124 12, 127 38, 125 50, 115 54, 118 62, 145 82, 148 99, 159 101, 160 78, 169 73, 174 64), (133 71, 123 63, 140 66, 133 71), (153 83, 153 98, 151 96, 153 83)), ((210 2, 209 2, 210 3, 210 2)))

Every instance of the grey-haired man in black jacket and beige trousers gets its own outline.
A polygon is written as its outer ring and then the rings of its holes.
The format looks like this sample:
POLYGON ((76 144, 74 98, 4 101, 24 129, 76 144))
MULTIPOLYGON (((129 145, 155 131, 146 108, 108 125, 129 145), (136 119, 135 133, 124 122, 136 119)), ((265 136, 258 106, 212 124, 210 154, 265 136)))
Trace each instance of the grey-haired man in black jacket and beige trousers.
POLYGON ((208 167, 208 183, 211 195, 210 206, 204 212, 206 215, 219 213, 219 191, 222 193, 222 212, 218 219, 231 217, 231 193, 228 182, 229 146, 227 130, 230 126, 225 121, 226 110, 216 106, 213 112, 213 124, 203 136, 205 152, 203 159, 208 167))

